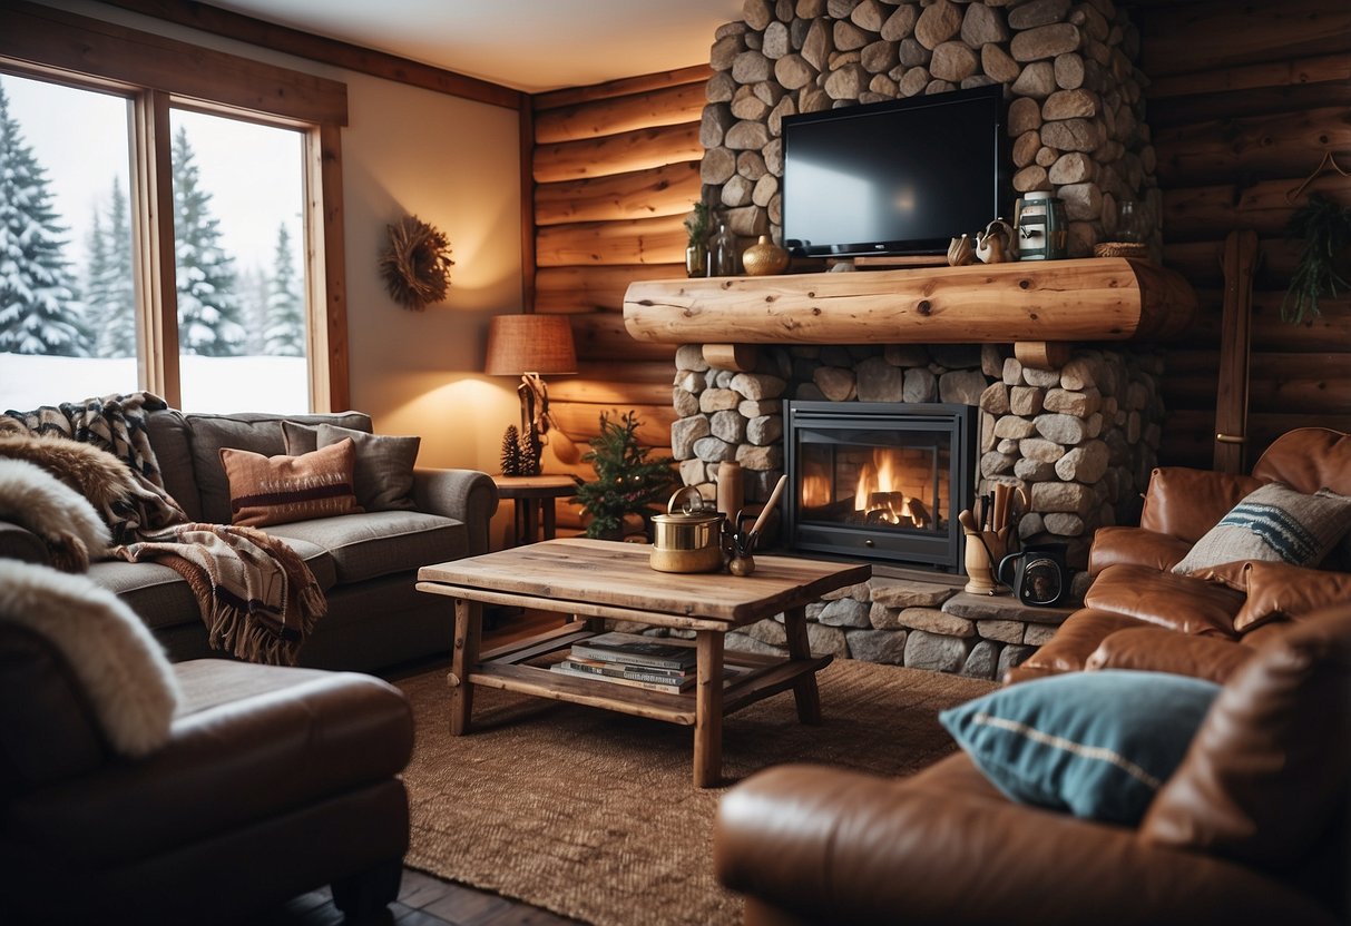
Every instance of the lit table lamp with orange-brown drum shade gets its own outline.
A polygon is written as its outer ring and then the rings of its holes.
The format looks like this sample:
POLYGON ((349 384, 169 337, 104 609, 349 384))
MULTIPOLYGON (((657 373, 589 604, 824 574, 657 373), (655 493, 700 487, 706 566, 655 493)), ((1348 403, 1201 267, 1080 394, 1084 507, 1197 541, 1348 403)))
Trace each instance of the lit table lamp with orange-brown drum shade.
POLYGON ((490 377, 520 377, 520 436, 530 460, 523 475, 539 475, 539 454, 553 431, 554 455, 563 463, 576 463, 577 447, 557 427, 549 412, 549 389, 542 377, 577 373, 573 328, 561 315, 499 315, 488 328, 488 362, 490 377))

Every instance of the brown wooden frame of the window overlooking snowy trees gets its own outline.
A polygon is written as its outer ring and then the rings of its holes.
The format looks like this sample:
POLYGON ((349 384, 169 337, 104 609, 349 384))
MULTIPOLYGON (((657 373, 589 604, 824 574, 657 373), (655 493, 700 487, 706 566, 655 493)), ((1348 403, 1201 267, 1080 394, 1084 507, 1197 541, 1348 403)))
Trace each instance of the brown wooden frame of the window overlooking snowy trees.
POLYGON ((28 3, 0 11, 0 70, 131 101, 138 379, 174 408, 181 408, 181 389, 169 111, 300 131, 309 408, 349 408, 345 84, 28 3))

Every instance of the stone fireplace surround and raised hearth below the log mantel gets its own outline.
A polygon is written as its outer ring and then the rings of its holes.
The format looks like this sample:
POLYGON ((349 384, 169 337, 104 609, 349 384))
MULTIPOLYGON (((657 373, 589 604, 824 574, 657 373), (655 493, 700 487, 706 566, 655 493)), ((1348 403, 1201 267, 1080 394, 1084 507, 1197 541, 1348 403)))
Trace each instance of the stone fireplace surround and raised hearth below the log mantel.
MULTIPOLYGON (((708 351, 717 358, 717 351, 708 351)), ((720 369, 700 344, 676 352, 671 451, 685 485, 716 498, 724 460, 742 466, 747 503, 784 471, 784 401, 958 402, 979 408, 975 489, 1021 487, 1024 541, 1069 544, 1082 570, 1093 530, 1131 524, 1155 466, 1162 354, 1084 347, 1061 367, 1024 366, 1004 344, 761 344, 754 370, 720 369)), ((878 570, 885 572, 885 570, 878 570)), ((1074 587, 1082 593, 1082 574, 1074 587)), ((889 578, 842 590, 808 610, 813 649, 871 661, 998 678, 1050 638, 1065 613, 1009 595, 959 593, 959 576, 889 578), (954 580, 955 579, 955 580, 954 580)), ((730 634, 766 649, 781 626, 730 634)), ((773 651, 773 649, 769 649, 773 651)))

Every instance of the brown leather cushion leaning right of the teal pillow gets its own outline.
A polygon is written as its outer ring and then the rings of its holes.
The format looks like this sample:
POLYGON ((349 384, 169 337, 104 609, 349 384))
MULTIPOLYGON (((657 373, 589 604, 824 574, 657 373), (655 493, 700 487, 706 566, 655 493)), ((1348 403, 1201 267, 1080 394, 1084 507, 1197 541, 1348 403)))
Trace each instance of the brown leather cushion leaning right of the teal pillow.
POLYGON ((1297 863, 1351 787, 1351 605, 1259 648, 1220 691, 1142 838, 1267 868, 1297 863))

